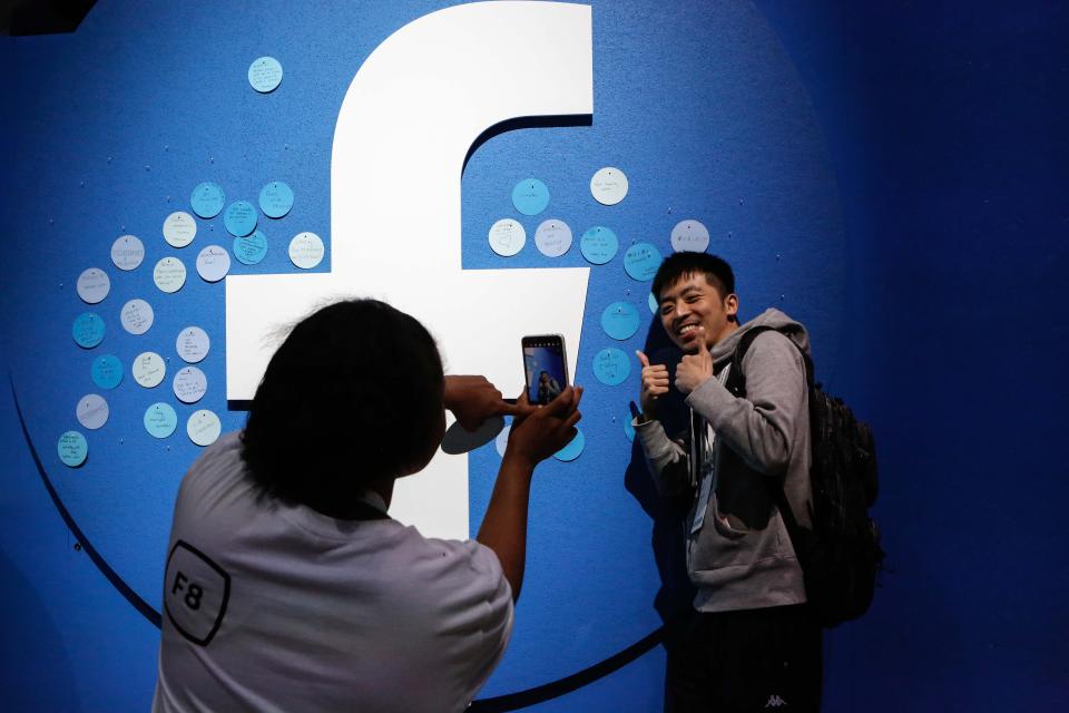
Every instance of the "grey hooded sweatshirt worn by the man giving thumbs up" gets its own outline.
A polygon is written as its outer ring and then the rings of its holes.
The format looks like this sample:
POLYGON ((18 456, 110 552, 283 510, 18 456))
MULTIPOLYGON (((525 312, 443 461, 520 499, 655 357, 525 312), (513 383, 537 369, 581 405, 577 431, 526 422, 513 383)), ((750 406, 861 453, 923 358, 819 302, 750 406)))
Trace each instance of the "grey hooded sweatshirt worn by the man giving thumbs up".
MULTIPOLYGON (((776 490, 783 488, 798 524, 811 526, 808 390, 798 351, 810 352, 805 328, 766 310, 710 353, 719 374, 743 334, 763 325, 776 331, 757 335, 743 358, 745 398, 734 397, 716 378, 687 397, 713 442, 700 457, 715 487, 708 488, 700 527, 695 527, 699 497, 687 527, 687 568, 698 587, 694 606, 699 612, 805 602, 802 568, 776 506, 776 490)), ((670 439, 656 420, 636 420, 635 431, 657 489, 671 495, 689 488, 688 437, 670 439)))

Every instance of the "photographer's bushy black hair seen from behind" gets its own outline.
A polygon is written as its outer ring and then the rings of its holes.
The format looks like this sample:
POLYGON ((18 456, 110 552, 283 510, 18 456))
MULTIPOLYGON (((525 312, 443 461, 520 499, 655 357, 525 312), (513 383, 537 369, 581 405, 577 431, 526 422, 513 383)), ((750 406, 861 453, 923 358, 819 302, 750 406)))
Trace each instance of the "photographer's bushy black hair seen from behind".
POLYGON ((442 419, 442 360, 426 329, 376 300, 325 306, 271 358, 242 436, 267 495, 321 509, 396 477, 442 419))

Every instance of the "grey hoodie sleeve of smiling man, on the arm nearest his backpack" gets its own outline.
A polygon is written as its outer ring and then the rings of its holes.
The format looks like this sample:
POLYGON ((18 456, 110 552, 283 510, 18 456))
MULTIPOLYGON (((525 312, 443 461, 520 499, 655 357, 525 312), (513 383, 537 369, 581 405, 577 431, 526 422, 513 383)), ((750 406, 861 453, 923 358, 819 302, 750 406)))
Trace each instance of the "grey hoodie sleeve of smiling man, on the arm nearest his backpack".
POLYGON ((751 468, 782 476, 791 462, 798 421, 806 418, 802 354, 779 332, 764 332, 746 351, 743 372, 746 398, 736 398, 716 379, 707 379, 690 392, 687 404, 751 468))

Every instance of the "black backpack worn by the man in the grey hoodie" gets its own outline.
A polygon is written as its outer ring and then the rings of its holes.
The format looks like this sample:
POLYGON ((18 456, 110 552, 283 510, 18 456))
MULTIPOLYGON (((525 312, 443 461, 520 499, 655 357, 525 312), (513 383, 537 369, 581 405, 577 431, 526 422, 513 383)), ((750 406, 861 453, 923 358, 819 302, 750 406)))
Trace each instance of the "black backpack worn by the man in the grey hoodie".
MULTIPOLYGON (((746 350, 771 329, 754 328, 739 340, 726 384, 736 397, 746 395, 746 350)), ((802 358, 810 391, 813 528, 797 524, 782 488, 776 501, 802 565, 810 607, 823 626, 833 627, 869 611, 883 568, 880 530, 869 517, 879 490, 876 451, 869 424, 859 421, 842 399, 824 393, 813 380, 813 360, 805 352, 802 358)))

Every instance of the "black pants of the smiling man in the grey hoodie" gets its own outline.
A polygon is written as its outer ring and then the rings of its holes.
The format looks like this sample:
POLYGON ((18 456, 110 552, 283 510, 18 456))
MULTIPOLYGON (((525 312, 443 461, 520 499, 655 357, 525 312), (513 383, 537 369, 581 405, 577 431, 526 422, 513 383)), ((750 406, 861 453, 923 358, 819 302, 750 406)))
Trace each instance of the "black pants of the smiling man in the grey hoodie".
POLYGON ((668 644, 669 713, 821 709, 822 633, 805 606, 695 613, 668 644))

